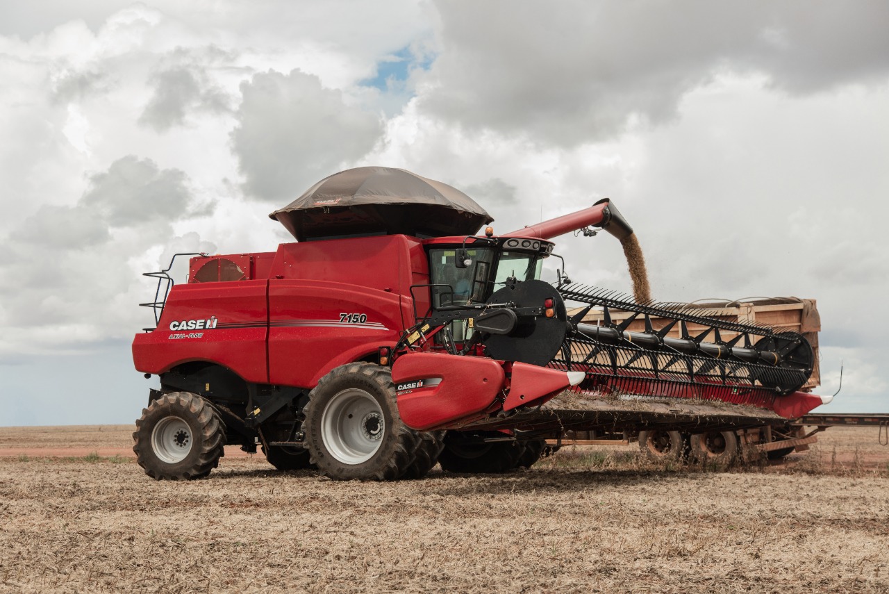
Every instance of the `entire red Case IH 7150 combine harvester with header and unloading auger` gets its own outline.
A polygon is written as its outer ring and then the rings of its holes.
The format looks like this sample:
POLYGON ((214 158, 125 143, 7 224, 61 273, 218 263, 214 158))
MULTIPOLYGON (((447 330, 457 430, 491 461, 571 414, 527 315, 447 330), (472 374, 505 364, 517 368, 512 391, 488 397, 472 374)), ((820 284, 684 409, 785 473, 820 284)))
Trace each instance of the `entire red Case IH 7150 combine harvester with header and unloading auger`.
POLYGON ((553 237, 633 245, 607 199, 476 235, 492 219, 458 190, 362 167, 270 216, 298 241, 198 254, 184 285, 148 275, 156 327, 132 352, 161 389, 133 449, 151 477, 204 477, 225 444, 380 480, 530 466, 566 431, 641 432, 660 454, 685 447, 677 431, 701 455, 739 435, 787 450, 789 420, 829 401, 800 391, 816 364, 800 333, 541 280, 553 237))

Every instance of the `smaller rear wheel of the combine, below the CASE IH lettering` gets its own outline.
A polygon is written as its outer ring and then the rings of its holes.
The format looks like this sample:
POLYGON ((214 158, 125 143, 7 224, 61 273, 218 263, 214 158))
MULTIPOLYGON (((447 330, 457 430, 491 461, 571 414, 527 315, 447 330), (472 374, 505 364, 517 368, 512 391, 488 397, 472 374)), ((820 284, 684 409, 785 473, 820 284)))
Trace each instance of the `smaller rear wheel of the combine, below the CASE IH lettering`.
POLYGON ((151 478, 204 478, 225 455, 225 425, 212 405, 191 392, 171 392, 142 410, 132 434, 136 462, 151 478))

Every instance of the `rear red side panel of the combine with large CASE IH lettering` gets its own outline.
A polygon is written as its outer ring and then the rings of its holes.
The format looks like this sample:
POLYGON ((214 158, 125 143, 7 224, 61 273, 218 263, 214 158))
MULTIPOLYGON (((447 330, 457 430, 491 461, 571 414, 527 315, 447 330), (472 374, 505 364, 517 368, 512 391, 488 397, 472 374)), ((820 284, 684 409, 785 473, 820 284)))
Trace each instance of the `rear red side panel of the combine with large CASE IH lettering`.
POLYGON ((162 373, 189 361, 212 361, 246 381, 268 383, 267 287, 267 280, 172 287, 156 330, 132 341, 136 369, 162 373), (207 320, 214 327, 205 327, 207 320))

